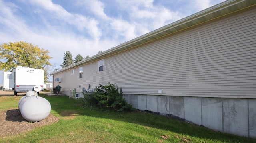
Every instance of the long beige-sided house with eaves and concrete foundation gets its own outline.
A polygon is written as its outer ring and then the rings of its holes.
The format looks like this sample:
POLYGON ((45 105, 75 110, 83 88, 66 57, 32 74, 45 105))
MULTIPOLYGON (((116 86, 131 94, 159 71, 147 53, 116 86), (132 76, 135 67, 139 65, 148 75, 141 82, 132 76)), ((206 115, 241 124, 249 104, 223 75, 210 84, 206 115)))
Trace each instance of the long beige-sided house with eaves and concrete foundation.
POLYGON ((89 84, 116 83, 138 110, 256 137, 253 2, 223 2, 61 69, 54 86, 82 97, 89 84))

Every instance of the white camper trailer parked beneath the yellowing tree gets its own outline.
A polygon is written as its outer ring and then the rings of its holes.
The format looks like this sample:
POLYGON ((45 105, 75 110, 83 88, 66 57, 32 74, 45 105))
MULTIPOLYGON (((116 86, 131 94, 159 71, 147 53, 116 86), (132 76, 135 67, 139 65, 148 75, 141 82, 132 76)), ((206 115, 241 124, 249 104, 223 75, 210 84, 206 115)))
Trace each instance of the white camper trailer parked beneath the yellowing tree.
MULTIPOLYGON (((5 72, 4 72, 5 73, 5 72)), ((7 72, 8 76, 4 77, 7 84, 5 88, 12 88, 14 95, 18 92, 42 91, 44 90, 44 70, 29 67, 17 66, 12 72, 7 72)), ((5 75, 5 74, 4 74, 5 75)))

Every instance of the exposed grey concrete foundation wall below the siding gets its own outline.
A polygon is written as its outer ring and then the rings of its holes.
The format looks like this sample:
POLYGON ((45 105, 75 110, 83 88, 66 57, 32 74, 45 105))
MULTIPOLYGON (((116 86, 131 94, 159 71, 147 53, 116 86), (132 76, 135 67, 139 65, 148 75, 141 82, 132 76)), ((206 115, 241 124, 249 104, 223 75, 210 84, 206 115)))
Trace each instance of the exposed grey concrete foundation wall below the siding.
POLYGON ((215 131, 256 138, 256 99, 153 96, 124 94, 138 110, 208 127, 215 131))

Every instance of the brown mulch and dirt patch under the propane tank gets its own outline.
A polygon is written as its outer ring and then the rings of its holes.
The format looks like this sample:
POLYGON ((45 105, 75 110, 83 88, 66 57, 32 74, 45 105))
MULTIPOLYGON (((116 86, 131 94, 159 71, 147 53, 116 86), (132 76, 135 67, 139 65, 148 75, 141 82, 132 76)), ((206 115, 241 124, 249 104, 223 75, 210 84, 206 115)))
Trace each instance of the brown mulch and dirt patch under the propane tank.
POLYGON ((19 133, 28 132, 38 127, 52 125, 58 121, 59 118, 50 114, 42 121, 31 123, 22 117, 18 109, 0 112, 0 136, 16 135, 19 133))

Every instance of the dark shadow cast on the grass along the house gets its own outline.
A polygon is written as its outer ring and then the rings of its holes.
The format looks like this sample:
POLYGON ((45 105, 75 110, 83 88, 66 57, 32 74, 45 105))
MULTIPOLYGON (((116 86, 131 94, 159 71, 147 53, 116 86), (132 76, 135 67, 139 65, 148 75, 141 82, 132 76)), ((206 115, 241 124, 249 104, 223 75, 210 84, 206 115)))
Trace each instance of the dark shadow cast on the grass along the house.
POLYGON ((96 108, 86 107, 82 102, 74 98, 69 98, 68 96, 41 95, 51 103, 52 110, 56 111, 64 118, 84 115, 134 123, 182 135, 195 136, 202 139, 218 140, 222 142, 256 142, 256 139, 216 132, 199 125, 193 125, 166 116, 139 112, 138 110, 134 112, 103 111, 96 108))

